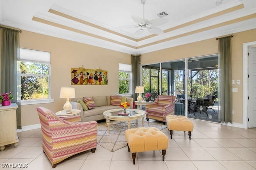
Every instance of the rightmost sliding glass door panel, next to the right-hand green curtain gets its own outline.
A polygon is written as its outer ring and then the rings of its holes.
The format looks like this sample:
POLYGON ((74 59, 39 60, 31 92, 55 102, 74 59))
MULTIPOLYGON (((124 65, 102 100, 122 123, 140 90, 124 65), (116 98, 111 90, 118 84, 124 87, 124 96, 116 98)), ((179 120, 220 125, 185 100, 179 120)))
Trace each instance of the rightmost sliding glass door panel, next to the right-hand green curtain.
POLYGON ((188 117, 220 122, 218 56, 187 59, 188 117))

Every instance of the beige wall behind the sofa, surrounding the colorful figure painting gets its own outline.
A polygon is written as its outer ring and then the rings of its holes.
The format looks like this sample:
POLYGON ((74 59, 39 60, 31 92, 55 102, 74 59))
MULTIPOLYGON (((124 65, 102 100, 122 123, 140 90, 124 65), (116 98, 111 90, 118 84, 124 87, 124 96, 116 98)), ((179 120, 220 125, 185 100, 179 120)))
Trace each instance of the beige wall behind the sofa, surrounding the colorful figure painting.
MULTIPOLYGON (((2 32, 0 32, 2 37, 2 32)), ((23 105, 22 126, 40 123, 36 107, 44 106, 56 112, 62 109, 65 99, 60 99, 60 88, 71 87, 70 69, 84 65, 84 68, 108 71, 108 85, 72 86, 76 97, 118 94, 118 63, 131 64, 130 54, 103 49, 91 45, 50 37, 22 30, 20 47, 49 51, 51 53, 51 96, 55 100, 50 104, 23 105)))

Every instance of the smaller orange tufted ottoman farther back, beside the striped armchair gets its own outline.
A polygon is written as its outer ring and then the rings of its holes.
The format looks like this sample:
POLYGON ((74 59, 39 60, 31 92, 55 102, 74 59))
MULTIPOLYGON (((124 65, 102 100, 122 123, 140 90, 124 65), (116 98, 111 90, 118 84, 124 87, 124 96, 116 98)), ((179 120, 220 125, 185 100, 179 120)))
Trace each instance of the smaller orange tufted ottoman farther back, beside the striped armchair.
POLYGON ((191 132, 194 129, 194 124, 186 116, 168 115, 166 116, 166 123, 170 130, 171 139, 173 130, 184 132, 188 131, 189 140, 191 139, 191 132))

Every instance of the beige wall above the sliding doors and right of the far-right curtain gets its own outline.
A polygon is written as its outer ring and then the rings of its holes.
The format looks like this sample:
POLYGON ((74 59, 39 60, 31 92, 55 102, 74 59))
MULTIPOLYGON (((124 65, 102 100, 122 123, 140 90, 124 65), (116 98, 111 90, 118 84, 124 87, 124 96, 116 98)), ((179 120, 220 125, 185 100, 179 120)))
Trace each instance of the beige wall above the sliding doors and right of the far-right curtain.
MULTIPOLYGON (((232 45, 232 79, 241 80, 241 84, 233 84, 238 92, 233 92, 233 122, 243 123, 243 43, 256 41, 256 29, 234 33, 231 39, 232 45)), ((189 57, 197 57, 218 53, 218 41, 216 38, 198 41, 178 47, 172 47, 142 55, 142 63, 152 64, 189 57)))

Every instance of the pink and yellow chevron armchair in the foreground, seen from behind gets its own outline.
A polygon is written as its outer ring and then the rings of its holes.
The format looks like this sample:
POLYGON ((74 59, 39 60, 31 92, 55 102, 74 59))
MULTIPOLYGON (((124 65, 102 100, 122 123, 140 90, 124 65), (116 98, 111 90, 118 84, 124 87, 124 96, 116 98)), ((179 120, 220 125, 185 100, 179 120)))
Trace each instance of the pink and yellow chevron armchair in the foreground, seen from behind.
POLYGON ((41 123, 43 150, 52 163, 52 168, 74 154, 86 150, 95 152, 98 128, 96 121, 69 122, 44 107, 37 107, 36 110, 41 123))

